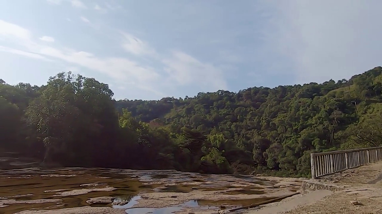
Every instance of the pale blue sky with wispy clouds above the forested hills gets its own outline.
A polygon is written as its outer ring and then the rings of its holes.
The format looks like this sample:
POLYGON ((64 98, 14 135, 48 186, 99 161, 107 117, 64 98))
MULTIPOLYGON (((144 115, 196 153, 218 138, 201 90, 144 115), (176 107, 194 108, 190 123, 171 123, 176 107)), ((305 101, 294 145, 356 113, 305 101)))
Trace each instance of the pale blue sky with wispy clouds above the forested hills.
POLYGON ((378 0, 0 0, 0 78, 115 99, 350 78, 382 65, 378 0))

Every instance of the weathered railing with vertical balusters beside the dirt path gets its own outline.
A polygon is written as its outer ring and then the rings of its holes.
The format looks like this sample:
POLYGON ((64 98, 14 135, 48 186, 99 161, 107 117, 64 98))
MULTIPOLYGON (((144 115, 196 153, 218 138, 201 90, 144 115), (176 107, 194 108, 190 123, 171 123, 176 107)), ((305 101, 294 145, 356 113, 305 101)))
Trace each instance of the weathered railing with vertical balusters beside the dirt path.
POLYGON ((382 146, 311 153, 312 179, 382 160, 382 146))

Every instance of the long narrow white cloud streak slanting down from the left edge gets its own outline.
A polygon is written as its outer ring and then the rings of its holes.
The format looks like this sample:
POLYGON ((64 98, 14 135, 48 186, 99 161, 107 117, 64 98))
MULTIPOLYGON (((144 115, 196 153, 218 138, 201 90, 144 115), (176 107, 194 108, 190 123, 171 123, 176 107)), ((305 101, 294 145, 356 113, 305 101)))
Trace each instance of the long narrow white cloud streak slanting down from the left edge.
POLYGON ((19 45, 25 50, 17 50, 1 46, 0 51, 19 54, 35 59, 60 59, 70 64, 86 67, 112 77, 121 83, 132 82, 137 88, 160 94, 152 88, 152 83, 160 78, 155 69, 139 65, 137 62, 122 57, 100 58, 92 53, 76 51, 70 48, 55 48, 46 44, 33 41, 29 30, 23 27, 0 20, 0 40, 16 38, 19 45))

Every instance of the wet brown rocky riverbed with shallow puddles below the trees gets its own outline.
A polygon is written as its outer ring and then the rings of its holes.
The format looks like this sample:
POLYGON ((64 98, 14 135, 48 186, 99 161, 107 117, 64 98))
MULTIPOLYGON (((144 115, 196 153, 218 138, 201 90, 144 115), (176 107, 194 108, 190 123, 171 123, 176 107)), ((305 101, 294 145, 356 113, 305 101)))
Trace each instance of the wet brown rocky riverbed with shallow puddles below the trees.
POLYGON ((216 213, 289 195, 303 179, 175 170, 0 170, 0 213, 216 213))

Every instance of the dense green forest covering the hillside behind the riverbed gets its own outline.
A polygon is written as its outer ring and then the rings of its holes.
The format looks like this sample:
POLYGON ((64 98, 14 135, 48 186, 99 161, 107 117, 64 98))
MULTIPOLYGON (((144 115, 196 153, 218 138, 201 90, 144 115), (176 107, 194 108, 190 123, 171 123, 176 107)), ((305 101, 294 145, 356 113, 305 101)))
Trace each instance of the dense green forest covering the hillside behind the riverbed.
POLYGON ((112 97, 70 72, 44 86, 0 80, 0 150, 61 166, 309 176, 312 152, 382 145, 382 67, 322 84, 112 97))

